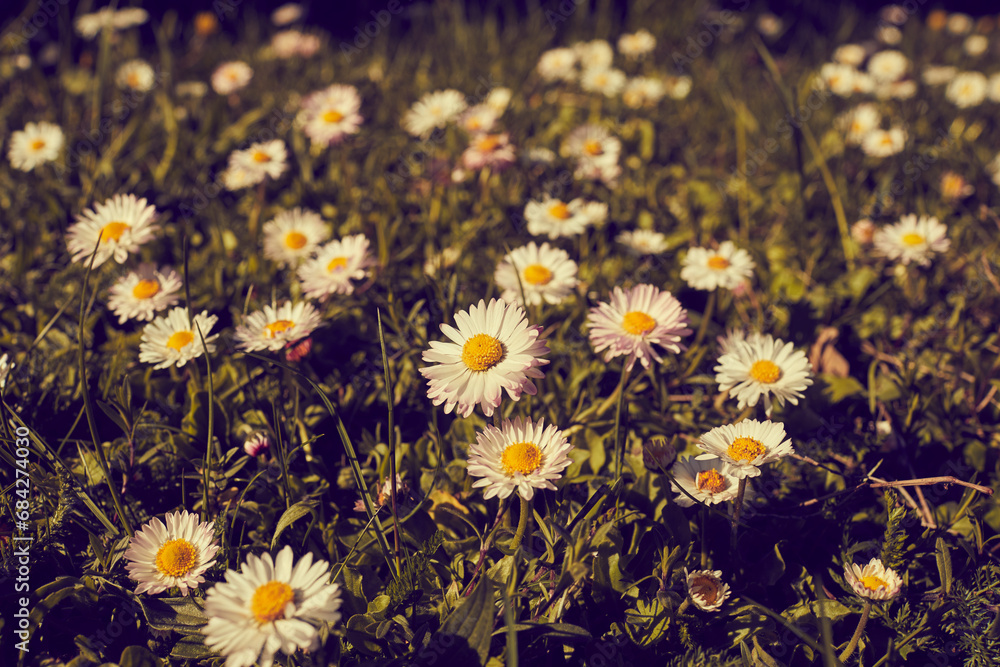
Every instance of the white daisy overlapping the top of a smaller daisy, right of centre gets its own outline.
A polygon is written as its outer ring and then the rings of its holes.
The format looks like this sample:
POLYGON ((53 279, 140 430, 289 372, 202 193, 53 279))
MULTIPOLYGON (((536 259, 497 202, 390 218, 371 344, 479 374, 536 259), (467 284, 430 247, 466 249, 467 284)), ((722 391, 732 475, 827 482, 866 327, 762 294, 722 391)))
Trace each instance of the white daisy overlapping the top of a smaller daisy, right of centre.
POLYGON ((757 477, 760 466, 793 453, 784 426, 756 419, 713 428, 697 445, 705 452, 697 456, 699 461, 721 459, 729 466, 727 472, 737 479, 757 477))

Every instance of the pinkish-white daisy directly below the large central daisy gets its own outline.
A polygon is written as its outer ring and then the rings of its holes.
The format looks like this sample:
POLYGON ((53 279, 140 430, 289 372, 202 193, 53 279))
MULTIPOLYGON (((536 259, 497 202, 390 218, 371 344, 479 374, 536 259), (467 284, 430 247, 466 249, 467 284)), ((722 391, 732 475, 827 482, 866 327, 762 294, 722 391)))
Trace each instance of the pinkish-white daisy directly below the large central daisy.
POLYGON ((573 445, 554 424, 545 420, 532 423, 518 417, 505 419, 500 428, 487 426, 476 433, 476 444, 469 447, 468 471, 481 477, 472 486, 485 488, 483 498, 506 498, 515 490, 531 500, 535 489, 555 491, 552 483, 562 477, 572 463, 573 445))

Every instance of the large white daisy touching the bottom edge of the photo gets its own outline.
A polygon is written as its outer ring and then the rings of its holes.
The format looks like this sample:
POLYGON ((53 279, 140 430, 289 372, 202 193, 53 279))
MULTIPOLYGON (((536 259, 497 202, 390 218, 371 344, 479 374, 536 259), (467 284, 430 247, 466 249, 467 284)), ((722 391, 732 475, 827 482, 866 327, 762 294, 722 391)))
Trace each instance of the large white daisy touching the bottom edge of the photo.
MULTIPOLYGON (((247 557, 239 572, 205 596, 205 644, 227 656, 226 667, 270 667, 280 650, 314 651, 320 628, 340 620, 340 586, 327 583, 330 565, 307 553, 293 562, 286 546, 278 557, 247 557)), ((325 636, 325 633, 323 633, 325 636)))

